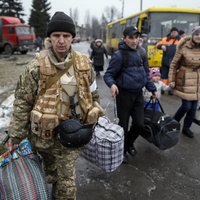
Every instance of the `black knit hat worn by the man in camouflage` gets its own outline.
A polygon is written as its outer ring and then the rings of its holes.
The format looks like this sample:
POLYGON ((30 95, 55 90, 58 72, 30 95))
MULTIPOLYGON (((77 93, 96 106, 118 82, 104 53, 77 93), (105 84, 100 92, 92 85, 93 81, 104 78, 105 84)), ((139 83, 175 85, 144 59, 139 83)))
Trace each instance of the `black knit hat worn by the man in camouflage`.
POLYGON ((52 32, 57 31, 69 32, 72 34, 73 38, 76 35, 76 28, 72 18, 66 15, 64 12, 56 12, 53 15, 47 26, 47 37, 49 37, 52 32))

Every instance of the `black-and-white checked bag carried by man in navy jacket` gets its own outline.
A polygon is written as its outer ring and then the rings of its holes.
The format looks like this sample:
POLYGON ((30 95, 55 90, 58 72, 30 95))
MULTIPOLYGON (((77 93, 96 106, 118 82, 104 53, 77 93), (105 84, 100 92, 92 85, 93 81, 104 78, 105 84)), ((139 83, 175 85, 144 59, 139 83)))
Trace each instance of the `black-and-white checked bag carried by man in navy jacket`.
POLYGON ((90 142, 81 156, 106 172, 116 170, 124 157, 124 130, 107 117, 99 117, 90 142))

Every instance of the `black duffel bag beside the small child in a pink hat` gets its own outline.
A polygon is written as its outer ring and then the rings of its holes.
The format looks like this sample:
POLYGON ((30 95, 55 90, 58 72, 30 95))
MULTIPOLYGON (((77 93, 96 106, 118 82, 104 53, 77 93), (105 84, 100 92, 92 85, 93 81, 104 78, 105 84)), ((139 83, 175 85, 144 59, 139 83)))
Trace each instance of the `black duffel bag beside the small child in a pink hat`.
POLYGON ((161 150, 169 149, 178 143, 180 123, 164 113, 158 99, 151 98, 148 103, 150 102, 153 105, 157 102, 161 111, 156 111, 155 106, 152 109, 148 109, 148 104, 145 106, 144 129, 141 136, 161 150))

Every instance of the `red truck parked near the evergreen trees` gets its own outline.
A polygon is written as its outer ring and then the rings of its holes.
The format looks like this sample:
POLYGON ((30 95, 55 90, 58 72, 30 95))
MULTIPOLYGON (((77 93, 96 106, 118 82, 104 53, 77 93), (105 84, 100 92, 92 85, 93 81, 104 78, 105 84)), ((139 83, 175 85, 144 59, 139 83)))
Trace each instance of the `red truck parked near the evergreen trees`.
POLYGON ((33 47, 34 33, 19 18, 0 16, 0 51, 12 54, 19 51, 26 54, 33 47))

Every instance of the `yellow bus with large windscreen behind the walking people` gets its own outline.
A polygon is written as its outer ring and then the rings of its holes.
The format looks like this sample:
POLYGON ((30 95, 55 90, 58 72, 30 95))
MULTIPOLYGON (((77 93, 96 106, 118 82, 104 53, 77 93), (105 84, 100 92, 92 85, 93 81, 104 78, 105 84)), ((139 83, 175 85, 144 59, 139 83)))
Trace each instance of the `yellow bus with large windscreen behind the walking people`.
POLYGON ((148 34, 149 67, 160 67, 162 51, 155 44, 165 37, 172 27, 191 33, 194 26, 200 25, 200 9, 188 8, 149 8, 137 14, 124 17, 107 24, 106 47, 109 54, 118 49, 122 40, 123 30, 127 26, 136 26, 141 33, 148 34))

